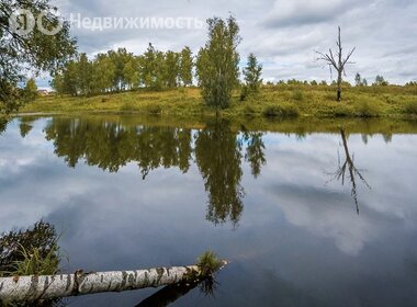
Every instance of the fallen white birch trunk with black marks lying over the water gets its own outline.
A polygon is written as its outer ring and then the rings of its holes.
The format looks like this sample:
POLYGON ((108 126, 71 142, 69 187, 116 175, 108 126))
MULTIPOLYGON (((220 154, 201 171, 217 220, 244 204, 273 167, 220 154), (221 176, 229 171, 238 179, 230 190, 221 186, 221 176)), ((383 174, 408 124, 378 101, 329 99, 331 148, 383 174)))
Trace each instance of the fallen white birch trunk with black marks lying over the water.
POLYGON ((103 292, 123 292, 172 285, 201 275, 198 265, 138 271, 75 273, 54 276, 0 278, 2 302, 34 302, 103 292))

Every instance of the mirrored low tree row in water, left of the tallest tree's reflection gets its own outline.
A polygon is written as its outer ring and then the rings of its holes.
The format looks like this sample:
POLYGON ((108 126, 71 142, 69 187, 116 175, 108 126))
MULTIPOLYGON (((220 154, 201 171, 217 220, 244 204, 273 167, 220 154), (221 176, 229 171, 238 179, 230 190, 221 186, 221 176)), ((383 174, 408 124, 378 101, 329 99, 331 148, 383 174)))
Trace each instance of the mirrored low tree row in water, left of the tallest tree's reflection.
POLYGON ((191 130, 171 127, 126 127, 120 123, 57 118, 46 127, 55 154, 74 168, 80 159, 110 172, 137 162, 143 178, 159 167, 187 172, 191 159, 191 130))

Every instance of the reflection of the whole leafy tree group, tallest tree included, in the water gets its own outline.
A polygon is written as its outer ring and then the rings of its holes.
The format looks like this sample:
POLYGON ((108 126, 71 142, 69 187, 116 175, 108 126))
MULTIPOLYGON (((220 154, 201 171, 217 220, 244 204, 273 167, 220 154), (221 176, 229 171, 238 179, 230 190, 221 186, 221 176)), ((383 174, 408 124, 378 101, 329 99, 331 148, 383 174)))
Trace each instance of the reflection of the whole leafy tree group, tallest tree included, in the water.
POLYGON ((212 121, 204 129, 126 126, 104 118, 53 118, 45 128, 55 154, 74 168, 82 159, 110 172, 136 162, 143 179, 155 169, 190 169, 193 156, 208 194, 206 218, 237 225, 243 212, 243 158, 255 178, 266 164, 261 133, 233 130, 226 121, 212 121), (194 135, 194 138, 193 138, 194 135), (245 155, 244 155, 245 148, 245 155))

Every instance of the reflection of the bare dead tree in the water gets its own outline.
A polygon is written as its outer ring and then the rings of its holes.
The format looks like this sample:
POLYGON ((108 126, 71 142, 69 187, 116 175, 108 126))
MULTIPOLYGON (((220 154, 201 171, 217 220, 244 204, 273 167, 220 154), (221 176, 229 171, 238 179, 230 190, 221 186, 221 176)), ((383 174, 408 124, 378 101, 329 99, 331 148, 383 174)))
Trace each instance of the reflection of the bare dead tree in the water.
POLYGON ((371 186, 368 184, 367 180, 363 178, 360 170, 354 167, 354 161, 353 161, 354 157, 350 156, 349 147, 348 147, 348 139, 347 139, 345 130, 342 128, 340 129, 340 135, 341 135, 341 140, 342 140, 342 145, 343 145, 343 149, 345 149, 346 160, 345 160, 345 163, 341 164, 340 163, 340 157, 339 157, 339 168, 335 173, 331 174, 333 178, 330 181, 341 180, 341 184, 345 185, 346 178, 348 178, 348 180, 350 181, 350 183, 352 185, 351 195, 353 197, 354 205, 357 207, 357 213, 359 215, 359 201, 358 201, 356 178, 358 177, 368 189, 371 190, 371 186), (348 173, 347 173, 347 171, 348 171, 348 173))

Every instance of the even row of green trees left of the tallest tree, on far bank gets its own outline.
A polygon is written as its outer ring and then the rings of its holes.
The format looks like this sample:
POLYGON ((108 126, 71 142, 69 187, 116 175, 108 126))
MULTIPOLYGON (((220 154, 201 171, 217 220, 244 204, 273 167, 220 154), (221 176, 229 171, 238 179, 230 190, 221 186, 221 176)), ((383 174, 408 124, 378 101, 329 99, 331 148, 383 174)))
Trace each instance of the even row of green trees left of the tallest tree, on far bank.
POLYGON ((189 47, 180 53, 162 53, 149 44, 145 54, 135 56, 125 48, 99 54, 90 60, 86 54, 67 62, 53 78, 60 94, 91 95, 148 88, 161 90, 192 84, 193 58, 189 47))

